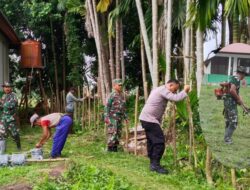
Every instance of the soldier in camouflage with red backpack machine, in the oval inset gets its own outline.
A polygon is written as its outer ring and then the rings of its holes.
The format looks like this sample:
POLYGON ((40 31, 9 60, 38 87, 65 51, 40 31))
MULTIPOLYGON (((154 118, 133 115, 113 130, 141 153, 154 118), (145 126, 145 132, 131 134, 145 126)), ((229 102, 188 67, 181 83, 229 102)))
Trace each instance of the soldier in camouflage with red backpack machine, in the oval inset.
MULTIPOLYGON (((246 75, 246 69, 239 66, 236 76, 231 76, 229 79, 229 90, 224 96, 224 118, 225 118, 225 136, 224 141, 227 144, 232 144, 232 135, 238 124, 237 104, 242 105, 243 102, 239 96, 240 82, 246 75)), ((223 84, 221 84, 223 86, 223 84)))

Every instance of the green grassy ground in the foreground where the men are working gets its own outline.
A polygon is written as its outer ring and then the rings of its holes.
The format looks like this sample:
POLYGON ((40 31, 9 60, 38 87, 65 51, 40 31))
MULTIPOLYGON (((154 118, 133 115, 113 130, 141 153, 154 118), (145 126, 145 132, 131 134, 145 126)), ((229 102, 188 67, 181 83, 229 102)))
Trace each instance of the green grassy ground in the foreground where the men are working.
MULTIPOLYGON (((28 151, 33 148, 39 136, 40 129, 28 129, 27 127, 25 130, 22 130, 21 137, 23 151, 28 151)), ((172 164, 172 157, 169 155, 164 156, 162 163, 169 168, 170 174, 158 175, 149 171, 149 161, 145 157, 136 157, 122 151, 118 153, 106 152, 104 139, 103 130, 70 135, 66 142, 65 149, 63 150, 63 156, 70 158, 66 163, 33 163, 20 167, 0 168, 0 189, 3 186, 6 187, 6 185, 18 183, 29 184, 30 186, 35 187, 34 189, 67 189, 59 188, 60 186, 57 184, 53 187, 51 185, 47 187, 44 185, 43 181, 48 181, 51 169, 62 164, 66 165, 66 171, 63 174, 66 176, 69 168, 68 166, 72 162, 80 165, 96 167, 99 171, 97 173, 100 173, 102 170, 111 172, 112 175, 115 176, 115 179, 116 177, 119 179, 121 178, 120 181, 125 181, 124 183, 129 184, 128 187, 124 187, 123 189, 214 189, 214 187, 207 185, 204 174, 202 175, 193 172, 190 166, 179 166, 175 168, 172 164), (43 184, 43 186, 41 184, 43 184)), ((8 153, 12 153, 16 150, 14 143, 10 139, 8 140, 7 145, 8 153)), ((44 152, 47 156, 49 155, 50 147, 51 141, 44 147, 44 152)), ((93 169, 90 168, 90 170, 92 171, 93 169)), ((83 169, 82 171, 84 173, 86 169, 83 169)), ((83 173, 79 173, 77 176, 84 175, 83 173)), ((85 176, 88 175, 85 174, 85 176)), ((94 179, 93 183, 98 183, 98 180, 101 179, 98 177, 97 179, 94 179)), ((51 182, 56 183, 56 180, 51 181, 50 179, 48 183, 50 184, 51 182)), ((48 183, 46 182, 45 184, 48 185, 48 183)), ((87 189, 117 188, 92 187, 87 189)), ((217 189, 230 189, 230 184, 224 182, 217 184, 217 189)))

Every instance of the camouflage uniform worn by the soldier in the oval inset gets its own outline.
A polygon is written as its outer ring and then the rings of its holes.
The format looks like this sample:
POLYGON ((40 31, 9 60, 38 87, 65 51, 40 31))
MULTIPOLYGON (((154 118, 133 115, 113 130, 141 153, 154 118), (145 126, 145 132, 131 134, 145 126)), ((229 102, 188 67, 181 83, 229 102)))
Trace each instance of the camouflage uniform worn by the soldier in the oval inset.
MULTIPOLYGON (((237 94, 239 94, 240 80, 238 79, 238 77, 231 76, 229 79, 229 83, 234 84, 236 86, 237 94)), ((233 132, 237 128, 238 124, 237 102, 230 94, 226 94, 223 99, 224 99, 224 118, 226 124, 224 140, 225 142, 231 142, 233 132)))

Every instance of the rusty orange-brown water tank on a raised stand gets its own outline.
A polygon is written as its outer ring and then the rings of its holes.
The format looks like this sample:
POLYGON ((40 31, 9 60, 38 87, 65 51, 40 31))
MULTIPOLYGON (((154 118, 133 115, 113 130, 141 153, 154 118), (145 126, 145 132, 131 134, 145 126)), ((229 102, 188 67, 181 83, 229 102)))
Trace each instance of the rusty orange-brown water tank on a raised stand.
POLYGON ((41 43, 36 40, 26 40, 21 44, 21 67, 43 68, 41 43))

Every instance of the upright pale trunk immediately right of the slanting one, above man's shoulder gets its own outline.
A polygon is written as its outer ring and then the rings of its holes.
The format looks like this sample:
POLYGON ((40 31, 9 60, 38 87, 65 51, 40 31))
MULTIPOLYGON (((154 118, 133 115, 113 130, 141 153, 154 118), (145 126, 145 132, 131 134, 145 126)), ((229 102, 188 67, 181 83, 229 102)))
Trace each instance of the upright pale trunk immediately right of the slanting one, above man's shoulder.
POLYGON ((153 88, 156 88, 159 83, 158 72, 158 3, 152 0, 152 50, 153 50, 153 88))

